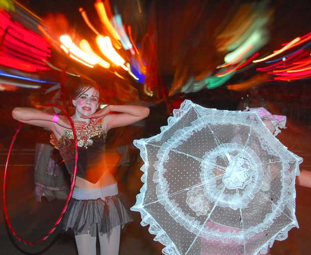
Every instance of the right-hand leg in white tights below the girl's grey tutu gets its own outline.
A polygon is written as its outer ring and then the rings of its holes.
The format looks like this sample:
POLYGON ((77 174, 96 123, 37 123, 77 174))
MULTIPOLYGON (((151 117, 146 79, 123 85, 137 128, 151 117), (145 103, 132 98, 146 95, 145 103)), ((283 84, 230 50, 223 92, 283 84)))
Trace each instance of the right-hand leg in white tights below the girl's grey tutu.
POLYGON ((108 238, 107 234, 99 234, 100 255, 118 255, 120 245, 120 226, 116 226, 111 230, 108 238))

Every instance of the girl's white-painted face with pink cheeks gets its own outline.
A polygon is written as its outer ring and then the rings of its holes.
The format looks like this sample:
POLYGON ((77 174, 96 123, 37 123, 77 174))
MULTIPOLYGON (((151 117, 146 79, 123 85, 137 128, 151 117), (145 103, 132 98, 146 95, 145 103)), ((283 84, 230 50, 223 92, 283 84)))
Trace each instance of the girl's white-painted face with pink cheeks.
POLYGON ((98 90, 95 88, 89 88, 72 100, 72 104, 75 106, 76 113, 88 116, 96 112, 99 104, 98 99, 98 90))

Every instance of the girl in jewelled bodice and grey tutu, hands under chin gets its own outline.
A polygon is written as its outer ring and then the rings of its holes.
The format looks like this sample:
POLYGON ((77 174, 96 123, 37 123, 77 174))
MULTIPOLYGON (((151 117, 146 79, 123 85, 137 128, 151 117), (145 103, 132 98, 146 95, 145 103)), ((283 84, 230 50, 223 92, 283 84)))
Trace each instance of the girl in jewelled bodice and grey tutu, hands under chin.
MULTIPOLYGON (((96 255, 97 233, 101 255, 119 252, 120 228, 132 221, 132 217, 122 205, 117 183, 105 164, 106 134, 114 127, 135 123, 149 114, 146 107, 128 105, 109 105, 97 111, 99 101, 99 90, 94 82, 79 80, 75 84, 71 94, 75 112, 71 118, 76 129, 79 159, 72 198, 61 224, 65 231, 73 231, 79 255, 96 255)), ((69 173, 73 174, 74 139, 66 117, 33 108, 14 108, 12 116, 18 121, 50 129, 51 140, 59 148, 69 173)))

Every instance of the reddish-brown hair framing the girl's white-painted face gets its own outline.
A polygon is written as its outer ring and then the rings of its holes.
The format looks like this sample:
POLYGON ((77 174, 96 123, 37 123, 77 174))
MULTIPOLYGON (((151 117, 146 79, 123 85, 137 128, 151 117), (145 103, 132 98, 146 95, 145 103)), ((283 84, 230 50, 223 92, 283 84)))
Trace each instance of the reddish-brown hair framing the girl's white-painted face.
POLYGON ((73 114, 75 107, 72 105, 72 100, 79 97, 81 94, 89 90, 90 88, 94 88, 98 91, 98 103, 100 104, 107 104, 106 100, 102 97, 102 90, 99 85, 86 78, 69 78, 65 83, 65 98, 66 101, 66 108, 69 114, 73 114))

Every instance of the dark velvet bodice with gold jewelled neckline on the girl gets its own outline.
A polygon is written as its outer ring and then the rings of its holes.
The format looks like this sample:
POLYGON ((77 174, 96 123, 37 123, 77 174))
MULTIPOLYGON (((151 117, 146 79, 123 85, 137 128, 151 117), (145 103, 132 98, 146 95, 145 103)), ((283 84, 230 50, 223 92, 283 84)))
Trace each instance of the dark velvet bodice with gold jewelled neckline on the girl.
MULTIPOLYGON (((72 130, 64 130, 62 137, 57 141, 51 134, 50 142, 59 149, 70 174, 74 171, 74 139, 72 130)), ((91 183, 97 183, 105 171, 106 132, 101 123, 90 123, 84 129, 76 130, 78 145, 78 161, 76 176, 91 183)))

